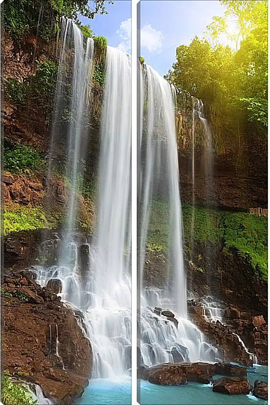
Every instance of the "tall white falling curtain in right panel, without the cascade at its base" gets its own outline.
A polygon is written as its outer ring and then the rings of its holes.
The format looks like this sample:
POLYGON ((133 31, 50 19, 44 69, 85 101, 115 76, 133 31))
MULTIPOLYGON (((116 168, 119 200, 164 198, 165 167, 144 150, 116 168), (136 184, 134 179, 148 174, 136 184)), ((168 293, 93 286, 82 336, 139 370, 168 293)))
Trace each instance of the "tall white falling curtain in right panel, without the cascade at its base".
POLYGON ((168 284, 164 286, 163 298, 174 303, 174 310, 186 315, 186 279, 182 255, 181 203, 179 194, 179 171, 174 124, 174 90, 155 70, 146 66, 146 128, 143 129, 141 150, 141 232, 140 268, 143 267, 147 231, 151 221, 154 200, 168 206, 167 246, 173 268, 168 284))

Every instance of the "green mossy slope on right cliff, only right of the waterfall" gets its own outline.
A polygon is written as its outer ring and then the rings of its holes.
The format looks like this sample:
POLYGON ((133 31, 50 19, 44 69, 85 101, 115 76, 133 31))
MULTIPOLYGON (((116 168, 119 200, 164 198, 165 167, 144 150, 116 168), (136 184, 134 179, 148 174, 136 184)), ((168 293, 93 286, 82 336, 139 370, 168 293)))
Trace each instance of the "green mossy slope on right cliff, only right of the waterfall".
POLYGON ((236 251, 246 257, 257 275, 267 281, 266 217, 242 212, 192 209, 189 205, 183 206, 182 211, 186 247, 190 247, 192 237, 194 240, 205 243, 215 244, 219 241, 223 249, 236 251))

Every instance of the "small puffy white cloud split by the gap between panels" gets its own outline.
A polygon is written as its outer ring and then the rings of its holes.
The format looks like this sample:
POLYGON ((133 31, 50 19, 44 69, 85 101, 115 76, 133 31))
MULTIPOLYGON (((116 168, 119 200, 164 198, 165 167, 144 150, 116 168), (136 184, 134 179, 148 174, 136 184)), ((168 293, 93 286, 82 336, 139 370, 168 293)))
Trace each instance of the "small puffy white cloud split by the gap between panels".
MULTIPOLYGON (((117 33, 121 38, 118 49, 124 52, 131 51, 131 18, 122 21, 117 33)), ((141 48, 146 48, 149 52, 160 52, 163 40, 162 32, 153 28, 151 24, 141 28, 141 48)))

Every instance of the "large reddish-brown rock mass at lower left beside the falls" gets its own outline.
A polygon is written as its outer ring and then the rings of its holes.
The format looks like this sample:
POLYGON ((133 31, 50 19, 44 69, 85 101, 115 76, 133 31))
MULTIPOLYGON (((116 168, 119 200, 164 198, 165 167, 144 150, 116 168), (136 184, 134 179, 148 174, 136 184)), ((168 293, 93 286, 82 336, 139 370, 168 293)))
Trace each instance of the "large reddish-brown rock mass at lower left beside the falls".
POLYGON ((92 350, 73 312, 23 272, 5 277, 3 287, 5 370, 23 371, 57 403, 74 403, 91 377, 92 350))

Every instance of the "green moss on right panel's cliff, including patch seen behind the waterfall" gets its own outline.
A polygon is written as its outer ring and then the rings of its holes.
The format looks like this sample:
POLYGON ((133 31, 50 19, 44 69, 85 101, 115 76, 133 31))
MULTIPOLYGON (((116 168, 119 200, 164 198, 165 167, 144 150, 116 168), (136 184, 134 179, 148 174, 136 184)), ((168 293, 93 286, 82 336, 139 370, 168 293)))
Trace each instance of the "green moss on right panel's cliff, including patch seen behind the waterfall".
MULTIPOLYGON (((148 247, 158 246, 163 252, 168 251, 169 215, 168 203, 161 200, 152 201, 147 234, 148 247)), ((267 281, 267 217, 183 205, 182 218, 187 260, 190 259, 193 239, 205 246, 219 243, 223 254, 237 253, 242 256, 250 263, 254 273, 263 281, 267 281)), ((202 271, 201 259, 199 255, 197 262, 192 262, 198 271, 202 271)))

